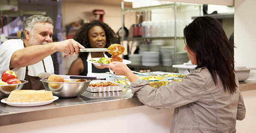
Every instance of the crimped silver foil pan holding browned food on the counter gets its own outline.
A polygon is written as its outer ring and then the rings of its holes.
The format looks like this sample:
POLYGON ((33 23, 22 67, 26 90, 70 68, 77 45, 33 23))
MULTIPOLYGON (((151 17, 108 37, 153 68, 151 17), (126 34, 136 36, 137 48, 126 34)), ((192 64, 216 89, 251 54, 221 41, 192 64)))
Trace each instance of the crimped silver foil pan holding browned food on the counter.
MULTIPOLYGON (((111 82, 111 81, 105 81, 105 80, 95 80, 95 81, 91 81, 91 84, 93 83, 100 83, 100 82, 111 82)), ((89 92, 114 92, 114 91, 122 91, 124 85, 116 83, 116 82, 112 82, 115 83, 119 86, 109 86, 109 87, 88 87, 86 89, 86 91, 89 92)))

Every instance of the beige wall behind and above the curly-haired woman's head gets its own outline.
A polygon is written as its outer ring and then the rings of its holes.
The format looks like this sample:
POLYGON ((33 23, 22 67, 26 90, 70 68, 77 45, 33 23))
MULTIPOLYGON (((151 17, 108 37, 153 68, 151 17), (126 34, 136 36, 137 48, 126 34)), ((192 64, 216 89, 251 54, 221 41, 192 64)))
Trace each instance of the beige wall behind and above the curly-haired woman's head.
MULTIPOLYGON (((127 6, 125 8, 128 8, 127 6)), ((131 8, 131 6, 129 7, 131 8)), ((105 11, 103 21, 117 32, 121 27, 121 3, 117 5, 94 4, 85 2, 63 1, 62 3, 62 20, 63 26, 80 19, 88 19, 92 10, 101 9, 105 11)), ((129 28, 135 23, 135 13, 125 14, 125 26, 129 28)))

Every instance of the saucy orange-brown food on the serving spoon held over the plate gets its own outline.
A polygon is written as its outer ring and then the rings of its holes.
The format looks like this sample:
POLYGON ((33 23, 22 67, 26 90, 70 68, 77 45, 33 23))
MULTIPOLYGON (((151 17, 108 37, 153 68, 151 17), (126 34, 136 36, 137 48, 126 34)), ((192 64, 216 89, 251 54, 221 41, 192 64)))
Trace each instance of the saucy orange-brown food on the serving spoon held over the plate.
POLYGON ((109 53, 112 55, 112 61, 120 61, 122 62, 123 59, 119 56, 123 53, 124 47, 120 44, 112 44, 107 48, 109 53))

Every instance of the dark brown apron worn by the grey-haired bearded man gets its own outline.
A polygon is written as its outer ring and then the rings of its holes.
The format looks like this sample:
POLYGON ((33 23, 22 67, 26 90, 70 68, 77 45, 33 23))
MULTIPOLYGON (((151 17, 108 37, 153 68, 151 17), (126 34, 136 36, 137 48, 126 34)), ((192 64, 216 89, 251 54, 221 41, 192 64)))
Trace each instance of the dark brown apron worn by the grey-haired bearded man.
MULTIPOLYGON (((24 47, 26 47, 25 44, 24 44, 24 47)), ((44 68, 44 72, 46 72, 44 61, 43 61, 43 68, 44 68)), ((28 83, 24 84, 24 86, 22 87, 22 90, 42 90, 42 89, 45 89, 43 87, 43 83, 40 81, 39 77, 28 75, 28 66, 26 67, 26 75, 25 75, 24 80, 27 80, 28 83)))

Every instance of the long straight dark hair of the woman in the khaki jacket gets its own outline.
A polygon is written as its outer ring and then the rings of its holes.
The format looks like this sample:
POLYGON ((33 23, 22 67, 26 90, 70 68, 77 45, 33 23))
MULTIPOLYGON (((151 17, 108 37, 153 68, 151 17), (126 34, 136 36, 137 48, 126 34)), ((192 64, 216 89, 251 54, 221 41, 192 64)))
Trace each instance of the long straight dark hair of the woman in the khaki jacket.
POLYGON ((184 41, 196 54, 197 68, 207 67, 215 85, 218 75, 224 90, 235 93, 234 43, 220 22, 208 16, 196 18, 184 28, 184 41))

